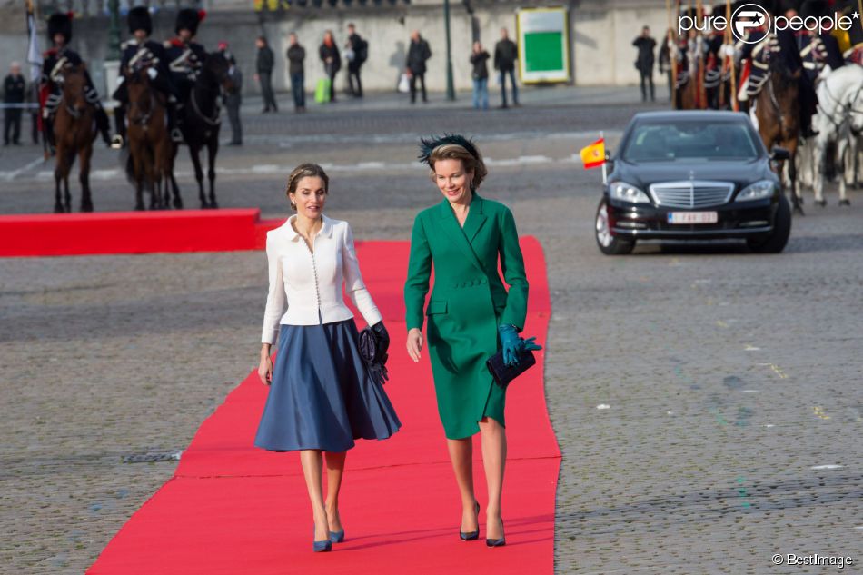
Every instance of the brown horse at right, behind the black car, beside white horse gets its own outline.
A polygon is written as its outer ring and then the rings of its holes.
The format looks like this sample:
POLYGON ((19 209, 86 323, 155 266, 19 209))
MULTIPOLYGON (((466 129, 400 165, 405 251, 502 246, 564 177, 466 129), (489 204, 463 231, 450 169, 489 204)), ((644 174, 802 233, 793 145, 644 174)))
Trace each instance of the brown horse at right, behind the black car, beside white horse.
POLYGON ((794 211, 803 213, 797 193, 797 163, 795 157, 800 137, 800 97, 799 79, 801 71, 790 72, 776 60, 769 64, 769 79, 764 83, 755 99, 755 117, 758 120, 759 134, 765 147, 772 151, 779 145, 789 151, 787 176, 779 164, 779 177, 783 188, 789 187, 794 211))

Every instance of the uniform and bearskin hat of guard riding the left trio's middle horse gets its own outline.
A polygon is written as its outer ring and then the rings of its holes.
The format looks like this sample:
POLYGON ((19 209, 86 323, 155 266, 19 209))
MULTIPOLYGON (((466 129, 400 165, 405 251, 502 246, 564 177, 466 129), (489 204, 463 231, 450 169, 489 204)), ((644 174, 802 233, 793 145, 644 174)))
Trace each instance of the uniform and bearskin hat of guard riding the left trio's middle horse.
POLYGON ((129 32, 133 35, 136 31, 144 31, 146 38, 139 40, 131 38, 121 46, 123 54, 120 57, 120 78, 117 89, 112 97, 119 105, 114 110, 114 121, 116 122, 117 135, 114 136, 112 146, 122 147, 126 135, 125 110, 129 104, 129 93, 125 83, 125 76, 130 72, 145 69, 150 78, 150 84, 160 93, 164 94, 168 115, 168 130, 171 132, 174 142, 182 141, 182 136, 176 129, 176 102, 177 90, 173 78, 168 70, 168 57, 165 55, 164 46, 149 36, 153 33, 153 21, 150 11, 144 6, 136 6, 129 11, 129 32))

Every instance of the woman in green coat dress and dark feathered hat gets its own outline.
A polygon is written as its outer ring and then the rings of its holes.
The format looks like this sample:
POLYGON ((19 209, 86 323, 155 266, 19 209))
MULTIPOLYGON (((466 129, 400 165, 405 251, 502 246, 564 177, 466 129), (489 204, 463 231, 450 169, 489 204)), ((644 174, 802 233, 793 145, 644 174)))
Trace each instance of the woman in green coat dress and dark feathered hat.
POLYGON ((414 362, 422 352, 423 303, 434 265, 434 286, 425 315, 438 412, 452 468, 461 491, 461 540, 479 538, 480 504, 473 491, 472 441, 482 436, 488 481, 486 544, 504 545, 501 513, 506 433, 504 387, 486 365, 498 352, 515 366, 541 349, 518 332, 527 314, 528 281, 510 210, 476 193, 486 175, 479 150, 460 135, 422 140, 422 162, 443 201, 413 223, 408 279, 407 348, 414 362), (509 293, 498 274, 498 258, 509 293))

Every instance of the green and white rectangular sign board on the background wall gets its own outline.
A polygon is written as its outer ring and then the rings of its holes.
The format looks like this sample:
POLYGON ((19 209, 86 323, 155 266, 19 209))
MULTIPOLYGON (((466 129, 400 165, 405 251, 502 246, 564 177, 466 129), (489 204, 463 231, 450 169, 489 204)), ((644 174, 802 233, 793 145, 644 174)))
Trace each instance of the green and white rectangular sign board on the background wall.
POLYGON ((521 8, 519 74, 525 84, 570 81, 569 14, 566 8, 521 8))

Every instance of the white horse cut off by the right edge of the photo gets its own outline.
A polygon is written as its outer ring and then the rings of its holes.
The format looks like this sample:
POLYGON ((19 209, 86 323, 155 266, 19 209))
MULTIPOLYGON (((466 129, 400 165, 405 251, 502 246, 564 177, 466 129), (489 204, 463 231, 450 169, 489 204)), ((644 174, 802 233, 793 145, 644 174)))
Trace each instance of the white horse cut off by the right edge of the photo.
POLYGON ((863 133, 863 66, 848 64, 834 70, 818 84, 818 114, 813 118, 818 135, 813 151, 813 190, 815 203, 827 205, 824 179, 827 172, 828 147, 837 147, 836 164, 839 180, 839 205, 848 205, 845 159, 857 154, 857 136, 863 133), (848 139, 854 142, 849 143, 848 139), (853 154, 853 155, 852 155, 853 154))

